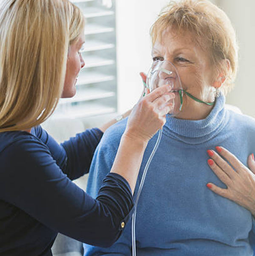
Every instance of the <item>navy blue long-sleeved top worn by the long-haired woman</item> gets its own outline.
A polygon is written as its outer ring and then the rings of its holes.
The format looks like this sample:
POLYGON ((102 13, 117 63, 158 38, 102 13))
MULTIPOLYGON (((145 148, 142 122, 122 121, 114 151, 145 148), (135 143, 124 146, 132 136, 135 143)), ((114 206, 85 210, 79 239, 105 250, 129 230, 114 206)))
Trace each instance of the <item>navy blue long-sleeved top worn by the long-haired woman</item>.
POLYGON ((127 181, 115 173, 93 199, 71 180, 89 172, 102 132, 58 144, 40 126, 0 133, 0 255, 52 255, 57 233, 108 247, 133 207, 127 181))

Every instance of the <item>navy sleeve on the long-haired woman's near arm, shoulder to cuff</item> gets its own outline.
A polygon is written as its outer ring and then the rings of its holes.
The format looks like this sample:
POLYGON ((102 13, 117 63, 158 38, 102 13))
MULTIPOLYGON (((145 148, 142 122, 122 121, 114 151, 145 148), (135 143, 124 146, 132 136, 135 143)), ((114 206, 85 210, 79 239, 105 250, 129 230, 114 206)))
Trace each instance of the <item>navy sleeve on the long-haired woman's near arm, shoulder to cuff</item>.
POLYGON ((98 246, 111 245, 122 233, 120 224, 128 218, 133 199, 120 175, 109 174, 95 200, 61 172, 47 148, 36 140, 12 143, 1 153, 0 162, 5 166, 0 200, 32 219, 98 246))

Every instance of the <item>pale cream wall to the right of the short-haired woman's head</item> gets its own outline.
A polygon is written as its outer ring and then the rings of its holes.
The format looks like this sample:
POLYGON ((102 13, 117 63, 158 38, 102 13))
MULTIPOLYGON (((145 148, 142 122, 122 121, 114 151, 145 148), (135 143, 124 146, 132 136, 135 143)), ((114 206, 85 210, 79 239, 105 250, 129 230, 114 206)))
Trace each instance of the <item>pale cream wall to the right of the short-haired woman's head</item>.
POLYGON ((238 76, 227 103, 255 117, 255 1, 218 0, 218 6, 232 21, 240 48, 238 76))

